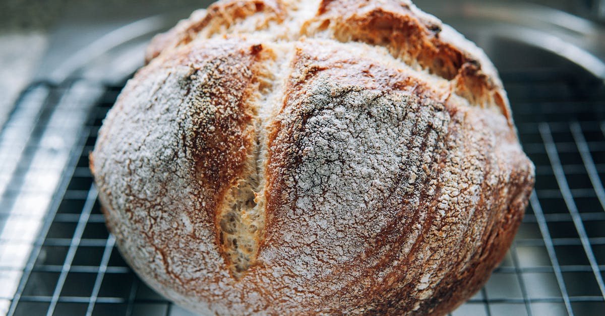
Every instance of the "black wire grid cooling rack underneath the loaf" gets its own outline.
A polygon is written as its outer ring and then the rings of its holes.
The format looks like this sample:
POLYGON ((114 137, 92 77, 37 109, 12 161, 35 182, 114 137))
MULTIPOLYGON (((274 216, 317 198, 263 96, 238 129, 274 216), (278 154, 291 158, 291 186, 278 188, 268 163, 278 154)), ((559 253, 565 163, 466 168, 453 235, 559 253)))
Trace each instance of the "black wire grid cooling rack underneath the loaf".
MULTIPOLYGON (((605 315, 603 82, 561 69, 502 77, 536 165, 535 192, 505 260, 453 315, 605 315)), ((0 314, 191 315, 128 268, 99 210, 88 153, 121 89, 76 79, 33 84, 0 131, 0 314), (85 117, 77 130, 61 130, 57 111, 85 117), (28 132, 9 137, 16 116, 30 117, 20 127, 28 132), (73 141, 53 145, 49 131, 73 141), (61 145, 70 150, 53 178, 48 170, 58 167, 35 156, 61 145), (28 180, 32 172, 38 180, 28 180)))

